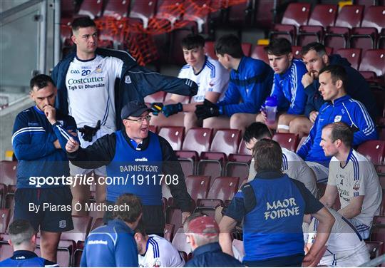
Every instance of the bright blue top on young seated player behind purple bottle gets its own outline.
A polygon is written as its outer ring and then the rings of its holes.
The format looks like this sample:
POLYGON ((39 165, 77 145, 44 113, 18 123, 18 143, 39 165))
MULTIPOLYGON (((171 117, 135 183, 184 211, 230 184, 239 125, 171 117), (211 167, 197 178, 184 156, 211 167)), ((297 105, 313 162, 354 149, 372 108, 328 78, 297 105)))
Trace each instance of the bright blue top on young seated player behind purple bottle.
POLYGON ((293 60, 284 73, 274 73, 271 96, 278 100, 278 110, 293 115, 302 115, 307 96, 302 85, 302 76, 307 73, 302 61, 293 60))

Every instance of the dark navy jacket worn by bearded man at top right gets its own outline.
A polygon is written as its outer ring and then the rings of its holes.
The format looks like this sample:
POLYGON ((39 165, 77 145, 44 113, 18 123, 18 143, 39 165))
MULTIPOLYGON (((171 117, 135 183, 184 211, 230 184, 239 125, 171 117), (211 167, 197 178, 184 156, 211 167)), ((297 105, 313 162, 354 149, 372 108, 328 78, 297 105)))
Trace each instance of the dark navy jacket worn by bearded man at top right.
MULTIPOLYGON (((351 98, 354 98, 354 100, 359 100, 362 104, 364 104, 366 110, 371 116, 371 119, 375 121, 378 115, 376 101, 374 100, 374 95, 371 92, 369 84, 366 82, 364 76, 361 76, 359 71, 356 71, 356 69, 352 68, 346 58, 342 58, 339 55, 334 54, 329 56, 329 64, 344 67, 348 77, 347 86, 345 86, 347 94, 349 94, 351 98)), ((307 94, 305 115, 307 117, 309 117, 309 114, 313 110, 319 111, 321 106, 325 103, 318 89, 318 79, 314 79, 313 83, 305 88, 305 93, 307 94)))

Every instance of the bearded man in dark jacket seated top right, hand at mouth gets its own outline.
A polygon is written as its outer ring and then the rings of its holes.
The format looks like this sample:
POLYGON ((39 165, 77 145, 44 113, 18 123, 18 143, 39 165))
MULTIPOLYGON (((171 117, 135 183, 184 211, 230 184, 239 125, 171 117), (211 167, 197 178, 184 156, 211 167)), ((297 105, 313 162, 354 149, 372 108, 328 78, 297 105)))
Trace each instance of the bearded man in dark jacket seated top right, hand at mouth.
POLYGON ((364 76, 359 71, 350 66, 346 58, 342 58, 338 54, 328 56, 326 48, 321 43, 309 43, 302 47, 302 59, 306 65, 308 73, 302 77, 302 85, 307 94, 307 103, 305 108, 305 116, 294 118, 289 123, 291 133, 299 133, 299 136, 309 133, 310 128, 314 124, 321 106, 324 104, 324 98, 319 93, 319 72, 322 68, 330 65, 343 66, 347 73, 347 83, 345 91, 351 98, 359 100, 364 104, 366 110, 372 120, 376 120, 377 108, 374 95, 371 93, 369 83, 366 82, 364 76))

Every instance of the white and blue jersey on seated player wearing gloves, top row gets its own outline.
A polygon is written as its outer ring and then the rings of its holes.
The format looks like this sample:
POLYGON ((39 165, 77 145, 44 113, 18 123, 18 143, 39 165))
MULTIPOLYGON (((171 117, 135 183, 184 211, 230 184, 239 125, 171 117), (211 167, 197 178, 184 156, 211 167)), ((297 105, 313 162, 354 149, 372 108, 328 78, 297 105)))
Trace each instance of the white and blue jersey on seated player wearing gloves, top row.
POLYGON ((197 95, 193 96, 192 102, 200 103, 205 100, 206 92, 220 93, 222 96, 229 83, 230 73, 218 61, 206 56, 199 73, 194 73, 194 68, 186 64, 180 69, 178 78, 188 78, 197 83, 197 95))

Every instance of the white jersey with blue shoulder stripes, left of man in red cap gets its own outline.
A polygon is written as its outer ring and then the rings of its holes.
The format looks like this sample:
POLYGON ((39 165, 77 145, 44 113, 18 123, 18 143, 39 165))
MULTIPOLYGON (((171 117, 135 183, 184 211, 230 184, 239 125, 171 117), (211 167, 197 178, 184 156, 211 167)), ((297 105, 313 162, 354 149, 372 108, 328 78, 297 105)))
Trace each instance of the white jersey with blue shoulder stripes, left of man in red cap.
POLYGON ((144 255, 138 255, 139 267, 183 267, 185 260, 167 239, 156 234, 148 236, 144 255))

